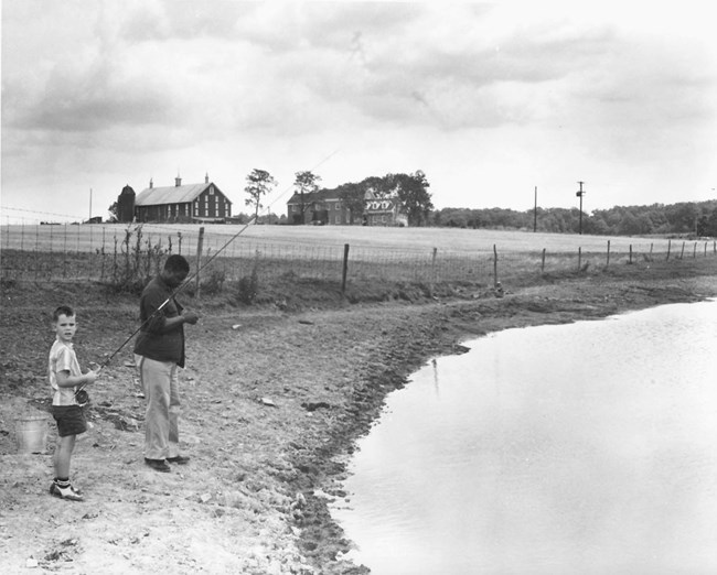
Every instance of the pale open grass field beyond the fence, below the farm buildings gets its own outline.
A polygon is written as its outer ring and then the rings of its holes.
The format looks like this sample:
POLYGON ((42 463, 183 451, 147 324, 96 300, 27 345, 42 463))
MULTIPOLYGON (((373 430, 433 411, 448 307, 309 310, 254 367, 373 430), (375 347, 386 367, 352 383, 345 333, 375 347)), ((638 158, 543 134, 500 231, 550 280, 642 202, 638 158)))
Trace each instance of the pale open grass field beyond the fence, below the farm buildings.
MULTIPOLYGON (((182 251, 196 251, 199 225, 142 225, 142 235, 152 243, 167 247, 181 242, 182 251), (181 239, 180 239, 181 236, 181 239)), ((0 241, 4 249, 26 251, 105 251, 121 245, 126 225, 82 226, 1 226, 0 241)), ((135 226, 131 227, 135 229, 135 226)), ((456 229, 456 228, 383 228, 363 226, 204 226, 204 247, 218 250, 233 236, 238 246, 306 246, 336 248, 349 243, 351 248, 385 249, 406 252, 492 252, 493 246, 502 252, 536 252, 545 249, 550 253, 627 251, 630 246, 636 252, 666 251, 665 238, 606 237, 574 234, 533 234, 515 230, 456 229)), ((682 242, 672 241, 673 249, 682 242)))

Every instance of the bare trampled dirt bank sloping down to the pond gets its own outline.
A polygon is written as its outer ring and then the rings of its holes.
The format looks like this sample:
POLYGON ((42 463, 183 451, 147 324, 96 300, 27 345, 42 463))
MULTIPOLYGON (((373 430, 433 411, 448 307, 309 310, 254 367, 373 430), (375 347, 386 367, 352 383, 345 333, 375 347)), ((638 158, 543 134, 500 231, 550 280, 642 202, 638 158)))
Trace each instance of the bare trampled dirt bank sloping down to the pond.
MULTIPOLYGON (((84 503, 51 498, 46 453, 18 454, 14 422, 45 413, 50 313, 78 311, 83 366, 136 328, 136 300, 66 286, 6 286, 0 337, 0 564, 4 573, 366 573, 328 513, 343 498, 343 462, 386 393, 431 356, 528 325, 599 318, 717 296, 715 262, 629 274, 543 278, 502 299, 232 308, 202 302, 188 328, 182 444, 190 465, 142 463, 143 400, 131 345, 90 390, 92 427, 77 444, 84 503), (679 273, 677 273, 679 272, 679 273), (36 565, 36 566, 34 566, 36 565)), ((192 305, 192 302, 186 302, 192 305)))

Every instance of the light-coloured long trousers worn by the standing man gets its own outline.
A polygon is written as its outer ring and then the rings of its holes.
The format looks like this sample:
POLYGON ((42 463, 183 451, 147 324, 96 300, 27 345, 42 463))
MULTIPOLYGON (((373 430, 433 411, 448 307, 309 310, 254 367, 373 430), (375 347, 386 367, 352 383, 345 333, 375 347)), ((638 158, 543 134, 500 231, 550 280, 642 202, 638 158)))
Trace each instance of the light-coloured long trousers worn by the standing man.
POLYGON ((156 361, 135 355, 142 390, 145 413, 145 457, 165 459, 179 452, 179 367, 173 361, 156 361))

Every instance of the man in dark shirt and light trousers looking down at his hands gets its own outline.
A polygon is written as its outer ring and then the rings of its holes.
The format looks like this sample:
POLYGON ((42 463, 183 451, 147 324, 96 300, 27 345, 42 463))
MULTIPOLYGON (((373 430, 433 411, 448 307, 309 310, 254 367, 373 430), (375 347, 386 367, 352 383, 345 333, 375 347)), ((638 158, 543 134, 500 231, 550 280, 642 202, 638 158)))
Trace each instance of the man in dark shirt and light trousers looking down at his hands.
POLYGON ((199 315, 185 311, 173 292, 186 279, 189 262, 170 256, 160 274, 147 284, 139 303, 141 327, 135 343, 147 413, 145 463, 157 471, 169 471, 170 463, 185 464, 179 452, 179 377, 184 367, 184 324, 196 324, 199 315))

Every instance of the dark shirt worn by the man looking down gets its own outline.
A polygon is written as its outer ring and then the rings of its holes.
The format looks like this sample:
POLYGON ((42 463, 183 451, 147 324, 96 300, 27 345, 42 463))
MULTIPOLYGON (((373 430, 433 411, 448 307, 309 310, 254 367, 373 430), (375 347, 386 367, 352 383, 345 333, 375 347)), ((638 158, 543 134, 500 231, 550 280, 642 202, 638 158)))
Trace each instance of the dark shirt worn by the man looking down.
POLYGON ((135 354, 154 361, 174 361, 184 367, 184 327, 167 328, 167 319, 182 313, 182 306, 172 297, 172 291, 157 276, 147 284, 139 300, 141 327, 135 341, 135 354), (164 303, 164 307, 157 312, 164 303))

